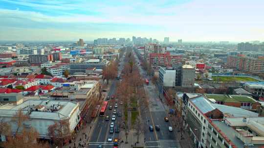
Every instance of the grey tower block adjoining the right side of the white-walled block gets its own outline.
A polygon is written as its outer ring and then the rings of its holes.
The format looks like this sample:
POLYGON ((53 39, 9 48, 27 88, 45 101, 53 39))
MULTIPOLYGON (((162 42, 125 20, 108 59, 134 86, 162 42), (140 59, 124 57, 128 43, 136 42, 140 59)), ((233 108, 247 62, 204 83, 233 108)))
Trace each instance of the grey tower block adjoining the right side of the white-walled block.
POLYGON ((195 68, 191 65, 183 65, 181 70, 181 86, 194 87, 195 68))

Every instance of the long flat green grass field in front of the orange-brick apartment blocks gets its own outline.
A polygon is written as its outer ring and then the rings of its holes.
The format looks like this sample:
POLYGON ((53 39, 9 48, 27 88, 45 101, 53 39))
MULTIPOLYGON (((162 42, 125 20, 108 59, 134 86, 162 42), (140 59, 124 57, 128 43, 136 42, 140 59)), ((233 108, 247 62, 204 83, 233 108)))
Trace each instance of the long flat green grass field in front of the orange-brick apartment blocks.
POLYGON ((258 80, 251 77, 233 77, 233 76, 212 76, 213 81, 218 82, 232 82, 232 81, 251 81, 257 82, 258 80))

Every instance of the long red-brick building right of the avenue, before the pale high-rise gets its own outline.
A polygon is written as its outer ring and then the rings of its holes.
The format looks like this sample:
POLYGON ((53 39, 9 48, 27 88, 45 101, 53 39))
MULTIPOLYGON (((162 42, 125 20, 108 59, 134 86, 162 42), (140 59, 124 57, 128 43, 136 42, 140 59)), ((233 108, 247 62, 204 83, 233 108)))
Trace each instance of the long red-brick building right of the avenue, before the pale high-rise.
POLYGON ((149 62, 152 66, 172 66, 176 63, 179 63, 182 59, 182 55, 171 55, 170 52, 166 51, 162 53, 150 53, 149 62))

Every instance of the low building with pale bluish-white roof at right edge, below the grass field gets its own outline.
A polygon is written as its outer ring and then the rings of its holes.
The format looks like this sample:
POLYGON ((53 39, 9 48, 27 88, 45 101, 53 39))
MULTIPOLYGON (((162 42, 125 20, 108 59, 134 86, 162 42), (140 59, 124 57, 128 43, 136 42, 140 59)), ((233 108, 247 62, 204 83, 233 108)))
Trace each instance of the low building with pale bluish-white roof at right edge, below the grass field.
POLYGON ((264 98, 264 82, 246 82, 243 88, 252 94, 264 98))

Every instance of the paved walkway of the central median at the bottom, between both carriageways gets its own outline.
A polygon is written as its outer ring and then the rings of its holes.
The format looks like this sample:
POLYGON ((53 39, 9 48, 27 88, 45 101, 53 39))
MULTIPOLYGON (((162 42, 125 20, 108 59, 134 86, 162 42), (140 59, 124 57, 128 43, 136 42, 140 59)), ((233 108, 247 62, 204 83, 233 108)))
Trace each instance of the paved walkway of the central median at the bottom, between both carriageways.
POLYGON ((124 141, 123 143, 119 144, 119 148, 137 148, 137 147, 144 147, 145 146, 145 142, 144 142, 144 133, 141 133, 138 136, 138 142, 137 142, 137 135, 136 135, 136 131, 135 130, 130 130, 129 131, 129 135, 128 135, 128 143, 126 144, 126 134, 125 134, 125 130, 121 130, 120 132, 120 137, 122 137, 120 139, 120 141, 124 141))

